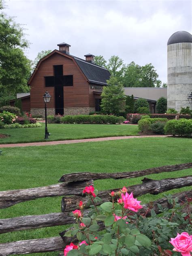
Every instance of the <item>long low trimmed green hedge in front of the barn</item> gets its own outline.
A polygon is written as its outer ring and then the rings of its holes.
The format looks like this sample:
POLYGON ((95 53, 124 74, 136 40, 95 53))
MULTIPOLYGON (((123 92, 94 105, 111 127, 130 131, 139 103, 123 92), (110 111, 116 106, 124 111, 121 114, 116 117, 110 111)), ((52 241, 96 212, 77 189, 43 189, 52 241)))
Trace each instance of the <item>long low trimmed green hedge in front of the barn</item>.
POLYGON ((124 117, 114 115, 66 115, 66 116, 47 116, 48 123, 64 124, 120 124, 124 117))

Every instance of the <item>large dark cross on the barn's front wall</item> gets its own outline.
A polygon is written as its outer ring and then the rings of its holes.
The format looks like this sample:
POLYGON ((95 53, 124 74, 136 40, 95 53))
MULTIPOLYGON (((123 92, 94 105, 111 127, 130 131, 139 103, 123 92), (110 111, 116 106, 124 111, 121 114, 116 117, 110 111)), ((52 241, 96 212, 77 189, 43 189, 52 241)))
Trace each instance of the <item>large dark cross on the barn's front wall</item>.
POLYGON ((54 76, 45 76, 45 87, 54 87, 55 115, 64 115, 64 86, 73 86, 73 75, 63 75, 63 65, 53 66, 54 76))

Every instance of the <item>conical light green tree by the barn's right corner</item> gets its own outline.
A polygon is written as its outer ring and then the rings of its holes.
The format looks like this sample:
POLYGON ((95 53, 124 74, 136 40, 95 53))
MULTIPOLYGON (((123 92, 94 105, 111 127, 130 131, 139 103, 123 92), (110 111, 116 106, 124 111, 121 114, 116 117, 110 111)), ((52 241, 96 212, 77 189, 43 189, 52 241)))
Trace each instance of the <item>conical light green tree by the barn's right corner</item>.
POLYGON ((123 85, 113 76, 111 76, 107 83, 109 85, 103 88, 101 94, 101 110, 106 114, 118 115, 119 112, 123 112, 125 104, 123 85))

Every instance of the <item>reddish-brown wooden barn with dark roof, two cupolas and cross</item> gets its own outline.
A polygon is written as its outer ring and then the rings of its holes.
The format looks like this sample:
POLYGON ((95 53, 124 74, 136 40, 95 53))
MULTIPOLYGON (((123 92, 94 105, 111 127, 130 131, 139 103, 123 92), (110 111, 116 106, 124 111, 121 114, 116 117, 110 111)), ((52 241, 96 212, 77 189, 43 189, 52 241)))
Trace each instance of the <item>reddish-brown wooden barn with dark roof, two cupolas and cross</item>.
POLYGON ((94 55, 86 54, 85 60, 69 53, 70 45, 58 44, 42 58, 29 79, 30 113, 44 116, 43 95, 47 90, 51 101, 47 104, 48 115, 88 114, 100 111, 100 95, 107 85, 110 73, 94 64, 94 55))

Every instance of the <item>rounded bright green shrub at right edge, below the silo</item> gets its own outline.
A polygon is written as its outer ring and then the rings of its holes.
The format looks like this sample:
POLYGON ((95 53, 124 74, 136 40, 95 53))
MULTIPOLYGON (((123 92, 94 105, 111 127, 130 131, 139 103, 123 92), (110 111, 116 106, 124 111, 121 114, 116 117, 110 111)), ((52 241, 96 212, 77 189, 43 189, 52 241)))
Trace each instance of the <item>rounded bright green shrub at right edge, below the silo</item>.
POLYGON ((164 127, 166 134, 172 134, 173 136, 192 136, 192 119, 180 119, 180 120, 170 120, 166 123, 164 127))

